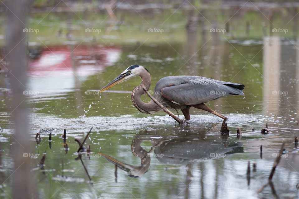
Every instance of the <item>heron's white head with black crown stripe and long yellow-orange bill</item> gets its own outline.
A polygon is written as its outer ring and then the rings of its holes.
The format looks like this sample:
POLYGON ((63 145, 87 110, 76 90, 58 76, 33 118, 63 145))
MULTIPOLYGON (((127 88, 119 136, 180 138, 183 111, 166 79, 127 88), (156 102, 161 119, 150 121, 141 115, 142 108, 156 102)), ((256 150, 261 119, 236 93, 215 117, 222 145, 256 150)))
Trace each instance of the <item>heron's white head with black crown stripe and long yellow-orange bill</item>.
POLYGON ((150 73, 145 67, 140 66, 140 65, 132 65, 132 66, 128 67, 126 70, 124 70, 124 72, 122 72, 119 76, 117 76, 109 84, 104 86, 104 88, 102 88, 99 92, 107 90, 107 89, 111 88, 112 86, 119 84, 122 81, 126 81, 135 76, 140 76, 142 78, 142 76, 145 73, 150 73))

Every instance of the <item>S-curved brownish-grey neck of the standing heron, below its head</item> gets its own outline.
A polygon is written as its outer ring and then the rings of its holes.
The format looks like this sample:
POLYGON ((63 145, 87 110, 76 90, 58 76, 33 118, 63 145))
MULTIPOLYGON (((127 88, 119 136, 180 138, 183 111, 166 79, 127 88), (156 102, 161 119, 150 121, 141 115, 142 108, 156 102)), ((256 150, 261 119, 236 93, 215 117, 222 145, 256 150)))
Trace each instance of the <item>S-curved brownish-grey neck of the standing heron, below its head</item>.
POLYGON ((142 86, 145 86, 146 90, 150 88, 150 73, 146 72, 140 75, 141 84, 134 88, 131 94, 133 105, 138 109, 141 113, 152 114, 161 110, 161 108, 154 103, 153 100, 150 100, 148 103, 144 103, 140 97, 144 94, 144 90, 142 86))

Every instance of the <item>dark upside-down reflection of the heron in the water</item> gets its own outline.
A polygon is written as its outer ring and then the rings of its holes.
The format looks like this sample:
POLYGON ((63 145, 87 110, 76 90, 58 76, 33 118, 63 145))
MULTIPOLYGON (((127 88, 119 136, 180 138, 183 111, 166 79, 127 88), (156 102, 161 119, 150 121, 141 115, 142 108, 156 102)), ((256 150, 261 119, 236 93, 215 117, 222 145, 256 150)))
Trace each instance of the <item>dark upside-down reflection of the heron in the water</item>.
POLYGON ((165 165, 190 165, 208 159, 223 157, 224 154, 243 152, 242 142, 226 145, 226 141, 203 141, 188 137, 164 137, 162 140, 147 137, 148 135, 146 137, 137 137, 131 144, 133 155, 141 159, 140 166, 120 162, 102 153, 101 155, 119 169, 122 169, 128 176, 137 178, 150 169, 150 153, 153 151, 159 162, 165 165), (140 146, 145 140, 149 140, 153 145, 149 151, 140 146))

